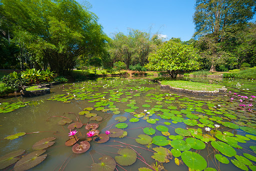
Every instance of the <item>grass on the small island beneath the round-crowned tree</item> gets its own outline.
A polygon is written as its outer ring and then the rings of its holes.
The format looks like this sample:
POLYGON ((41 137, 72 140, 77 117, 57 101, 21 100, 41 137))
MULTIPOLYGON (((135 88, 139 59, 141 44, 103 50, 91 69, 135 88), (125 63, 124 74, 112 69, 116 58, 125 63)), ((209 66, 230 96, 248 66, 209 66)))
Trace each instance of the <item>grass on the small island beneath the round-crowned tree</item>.
POLYGON ((221 85, 217 84, 205 84, 191 81, 161 81, 162 85, 169 85, 170 87, 184 88, 188 90, 202 90, 202 91, 214 91, 216 88, 222 88, 221 85))

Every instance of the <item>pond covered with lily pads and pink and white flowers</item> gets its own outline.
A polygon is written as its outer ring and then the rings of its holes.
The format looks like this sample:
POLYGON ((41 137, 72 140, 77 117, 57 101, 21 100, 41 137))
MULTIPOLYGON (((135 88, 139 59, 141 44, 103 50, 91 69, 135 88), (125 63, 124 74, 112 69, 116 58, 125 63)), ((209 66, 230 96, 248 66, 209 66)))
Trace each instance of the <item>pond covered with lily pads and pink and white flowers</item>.
POLYGON ((110 77, 1 99, 0 168, 256 170, 254 80, 209 82, 228 93, 191 96, 148 79, 110 77), (77 133, 68 136, 72 129, 77 133), (12 164, 17 155, 24 157, 12 164))

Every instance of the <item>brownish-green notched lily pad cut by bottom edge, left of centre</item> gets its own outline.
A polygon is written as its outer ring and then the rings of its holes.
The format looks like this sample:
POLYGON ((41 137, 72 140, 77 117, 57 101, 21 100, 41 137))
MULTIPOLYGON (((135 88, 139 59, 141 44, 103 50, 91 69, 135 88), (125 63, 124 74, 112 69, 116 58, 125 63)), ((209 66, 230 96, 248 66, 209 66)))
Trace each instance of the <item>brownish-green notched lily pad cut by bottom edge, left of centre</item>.
POLYGON ((91 164, 91 171, 114 171, 115 165, 115 160, 112 157, 103 155, 99 163, 91 164))

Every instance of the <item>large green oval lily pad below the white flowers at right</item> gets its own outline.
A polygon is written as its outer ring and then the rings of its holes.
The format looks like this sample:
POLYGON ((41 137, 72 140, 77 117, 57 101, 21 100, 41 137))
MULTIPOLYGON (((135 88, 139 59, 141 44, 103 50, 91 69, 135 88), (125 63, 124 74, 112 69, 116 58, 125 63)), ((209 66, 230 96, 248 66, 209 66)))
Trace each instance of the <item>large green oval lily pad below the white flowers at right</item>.
POLYGON ((236 151, 228 144, 225 142, 221 141, 211 141, 210 143, 214 148, 216 148, 219 152, 222 154, 231 157, 236 154, 236 151))

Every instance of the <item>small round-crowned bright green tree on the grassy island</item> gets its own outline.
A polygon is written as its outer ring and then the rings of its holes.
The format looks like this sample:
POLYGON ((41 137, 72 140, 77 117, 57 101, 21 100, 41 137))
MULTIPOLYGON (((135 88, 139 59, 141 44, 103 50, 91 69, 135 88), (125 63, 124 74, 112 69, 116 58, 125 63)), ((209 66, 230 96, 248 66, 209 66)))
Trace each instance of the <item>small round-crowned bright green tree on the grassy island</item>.
POLYGON ((178 71, 199 69, 197 58, 193 47, 170 40, 156 52, 149 54, 145 67, 149 70, 168 71, 171 78, 176 78, 178 71))

